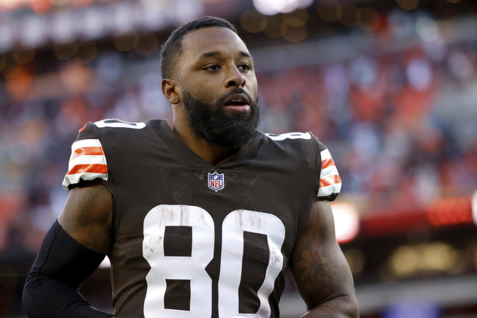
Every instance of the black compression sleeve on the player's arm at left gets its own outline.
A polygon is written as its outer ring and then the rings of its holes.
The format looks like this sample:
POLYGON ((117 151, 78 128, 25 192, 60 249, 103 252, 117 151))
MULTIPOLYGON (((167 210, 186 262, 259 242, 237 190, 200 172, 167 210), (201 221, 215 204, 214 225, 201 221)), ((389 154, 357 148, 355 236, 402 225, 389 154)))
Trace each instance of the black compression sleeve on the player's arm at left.
POLYGON ((79 285, 98 267, 104 254, 70 237, 55 221, 41 243, 22 295, 29 318, 108 318, 79 294, 79 285))

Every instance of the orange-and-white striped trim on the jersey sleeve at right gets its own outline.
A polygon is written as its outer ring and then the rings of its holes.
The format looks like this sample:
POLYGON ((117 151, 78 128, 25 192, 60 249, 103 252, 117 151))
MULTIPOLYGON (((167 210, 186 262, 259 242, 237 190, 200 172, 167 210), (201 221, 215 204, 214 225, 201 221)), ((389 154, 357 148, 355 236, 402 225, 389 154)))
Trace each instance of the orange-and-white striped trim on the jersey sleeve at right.
POLYGON ((321 151, 321 171, 319 174, 318 197, 338 194, 341 190, 341 178, 327 149, 321 151))

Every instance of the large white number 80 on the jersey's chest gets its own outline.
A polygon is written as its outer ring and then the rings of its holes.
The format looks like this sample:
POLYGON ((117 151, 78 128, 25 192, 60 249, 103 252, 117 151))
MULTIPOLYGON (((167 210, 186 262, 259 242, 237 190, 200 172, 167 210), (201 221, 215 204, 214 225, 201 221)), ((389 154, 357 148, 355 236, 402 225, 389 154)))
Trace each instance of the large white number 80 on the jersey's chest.
MULTIPOLYGON (((219 317, 270 317, 268 297, 282 270, 281 247, 285 227, 272 214, 236 210, 222 224, 222 256, 219 278, 219 317), (270 252, 265 279, 258 290, 260 307, 256 314, 239 313, 239 284, 243 258, 243 232, 267 236, 270 252)), ((151 270, 146 276, 148 290, 144 317, 211 317, 212 279, 205 270, 214 257, 215 231, 211 215, 202 208, 188 205, 159 205, 144 219, 143 256, 151 270), (164 256, 164 233, 167 226, 192 228, 191 256, 164 256), (166 279, 190 281, 190 310, 164 307, 166 279), (210 304, 210 305, 207 305, 210 304)))

